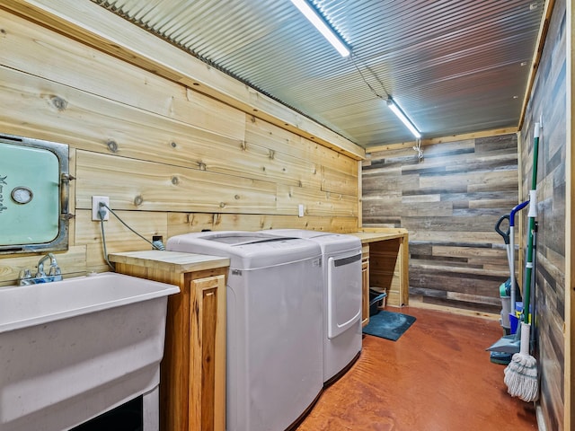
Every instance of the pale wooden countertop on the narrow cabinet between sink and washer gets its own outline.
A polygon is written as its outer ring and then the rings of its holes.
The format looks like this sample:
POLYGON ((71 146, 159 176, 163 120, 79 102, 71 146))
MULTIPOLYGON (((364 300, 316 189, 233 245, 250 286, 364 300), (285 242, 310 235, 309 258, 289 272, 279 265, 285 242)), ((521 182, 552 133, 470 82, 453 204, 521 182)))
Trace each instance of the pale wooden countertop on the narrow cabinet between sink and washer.
POLYGON ((166 271, 202 271, 205 269, 229 267, 230 259, 208 254, 183 253, 181 251, 126 251, 112 253, 108 256, 112 262, 127 265, 142 265, 166 271))

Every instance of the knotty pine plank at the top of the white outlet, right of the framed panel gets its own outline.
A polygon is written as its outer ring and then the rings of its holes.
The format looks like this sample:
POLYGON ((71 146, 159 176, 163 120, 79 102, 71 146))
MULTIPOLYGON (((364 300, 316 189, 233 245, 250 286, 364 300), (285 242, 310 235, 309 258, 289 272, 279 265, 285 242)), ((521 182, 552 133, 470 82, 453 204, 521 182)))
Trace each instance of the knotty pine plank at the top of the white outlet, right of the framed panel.
POLYGON ((276 212, 277 186, 269 181, 80 151, 76 173, 76 208, 91 208, 99 195, 118 209, 276 212))

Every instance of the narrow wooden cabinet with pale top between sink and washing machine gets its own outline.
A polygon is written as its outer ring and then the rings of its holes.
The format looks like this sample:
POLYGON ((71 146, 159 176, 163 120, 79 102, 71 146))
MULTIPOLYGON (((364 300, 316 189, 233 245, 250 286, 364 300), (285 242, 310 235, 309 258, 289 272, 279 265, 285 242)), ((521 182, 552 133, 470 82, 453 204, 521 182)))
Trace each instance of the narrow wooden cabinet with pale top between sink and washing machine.
POLYGON ((116 271, 180 287, 168 299, 160 429, 226 429, 226 277, 229 259, 173 251, 110 255, 116 271))

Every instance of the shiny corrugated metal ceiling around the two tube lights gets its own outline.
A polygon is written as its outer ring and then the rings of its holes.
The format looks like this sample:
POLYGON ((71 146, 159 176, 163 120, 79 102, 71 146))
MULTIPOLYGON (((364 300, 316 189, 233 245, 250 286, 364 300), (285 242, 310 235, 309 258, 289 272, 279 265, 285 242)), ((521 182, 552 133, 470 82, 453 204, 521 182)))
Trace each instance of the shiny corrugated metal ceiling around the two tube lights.
POLYGON ((544 0, 314 0, 342 58, 289 0, 93 0, 366 148, 516 127, 544 0), (376 95, 377 94, 377 95, 376 95))

